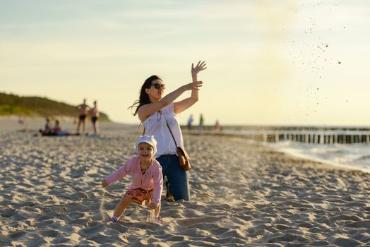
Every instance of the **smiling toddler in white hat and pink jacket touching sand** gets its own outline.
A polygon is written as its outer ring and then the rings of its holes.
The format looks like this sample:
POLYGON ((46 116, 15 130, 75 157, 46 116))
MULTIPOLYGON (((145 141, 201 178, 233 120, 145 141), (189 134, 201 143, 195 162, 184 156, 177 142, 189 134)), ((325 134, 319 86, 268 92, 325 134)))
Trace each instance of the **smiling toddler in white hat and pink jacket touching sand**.
POLYGON ((160 215, 160 198, 163 189, 162 167, 154 158, 157 152, 157 141, 154 136, 141 135, 136 141, 137 156, 132 157, 121 168, 102 181, 105 188, 109 184, 131 174, 131 183, 114 211, 111 222, 117 222, 130 203, 143 205, 146 202, 155 210, 155 217, 160 215))

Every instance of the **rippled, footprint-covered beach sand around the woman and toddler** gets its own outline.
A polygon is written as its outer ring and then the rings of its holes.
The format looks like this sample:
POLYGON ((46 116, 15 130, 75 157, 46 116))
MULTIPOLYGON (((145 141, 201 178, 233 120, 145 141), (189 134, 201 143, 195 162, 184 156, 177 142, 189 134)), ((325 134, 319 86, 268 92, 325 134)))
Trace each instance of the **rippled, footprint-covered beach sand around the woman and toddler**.
POLYGON ((43 124, 0 119, 0 246, 370 246, 370 174, 217 135, 184 135, 190 203, 164 191, 162 223, 131 204, 112 224, 130 179, 106 191, 101 181, 141 131, 101 123, 100 135, 33 136, 43 124))

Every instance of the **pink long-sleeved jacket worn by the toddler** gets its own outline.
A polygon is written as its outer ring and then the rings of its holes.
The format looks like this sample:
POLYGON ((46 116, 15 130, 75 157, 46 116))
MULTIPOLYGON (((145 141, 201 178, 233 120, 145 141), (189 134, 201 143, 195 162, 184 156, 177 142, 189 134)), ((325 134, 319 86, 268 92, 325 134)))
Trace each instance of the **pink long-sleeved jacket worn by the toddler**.
POLYGON ((152 164, 145 171, 141 173, 140 159, 135 156, 129 159, 124 166, 120 167, 117 171, 107 176, 105 181, 108 185, 115 181, 122 179, 127 174, 131 173, 131 183, 129 190, 134 188, 143 188, 150 190, 153 188, 153 203, 159 204, 163 190, 162 167, 157 159, 153 159, 152 164))

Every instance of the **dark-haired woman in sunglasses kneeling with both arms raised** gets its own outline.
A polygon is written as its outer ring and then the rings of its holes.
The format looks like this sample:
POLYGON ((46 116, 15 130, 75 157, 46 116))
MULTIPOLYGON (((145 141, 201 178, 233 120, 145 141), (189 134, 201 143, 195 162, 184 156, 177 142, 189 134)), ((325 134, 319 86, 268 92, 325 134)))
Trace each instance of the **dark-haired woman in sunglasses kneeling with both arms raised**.
POLYGON ((204 61, 198 61, 195 67, 191 64, 193 82, 182 85, 165 97, 163 97, 165 84, 162 79, 158 76, 150 76, 141 87, 139 100, 131 106, 131 108, 136 107, 133 115, 138 114, 138 118, 144 125, 145 133, 154 135, 158 142, 157 161, 162 166, 163 177, 167 176, 167 196, 169 197, 171 193, 174 200, 190 201, 189 175, 179 167, 177 147, 169 128, 171 128, 176 143, 184 147, 177 114, 184 112, 198 101, 198 90, 203 82, 198 81, 197 76, 205 68, 204 61), (187 90, 191 91, 190 97, 174 102, 187 90))

